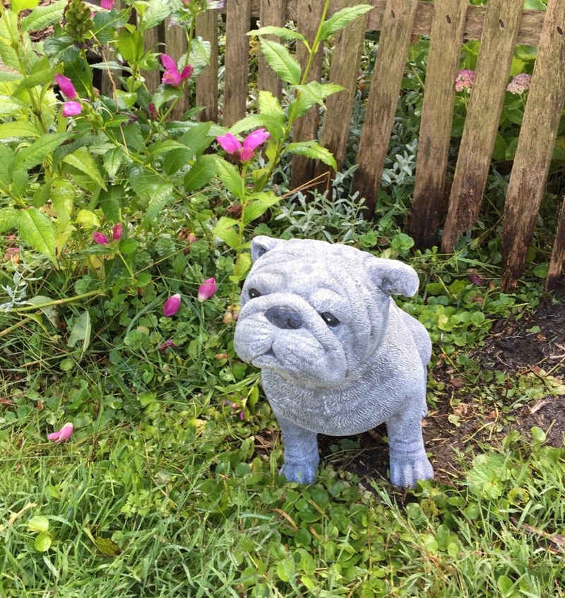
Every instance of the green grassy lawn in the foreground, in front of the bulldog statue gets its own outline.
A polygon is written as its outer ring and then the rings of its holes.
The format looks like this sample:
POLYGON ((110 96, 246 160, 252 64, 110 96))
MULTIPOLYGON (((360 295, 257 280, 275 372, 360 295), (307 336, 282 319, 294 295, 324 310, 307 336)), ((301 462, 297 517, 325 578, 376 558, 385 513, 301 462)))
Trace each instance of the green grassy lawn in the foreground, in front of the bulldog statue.
POLYGON ((509 435, 415 495, 331 466, 302 488, 278 478, 278 440, 256 450, 272 421, 200 409, 150 402, 64 445, 40 414, 3 426, 0 596, 564 595, 563 450, 509 435))

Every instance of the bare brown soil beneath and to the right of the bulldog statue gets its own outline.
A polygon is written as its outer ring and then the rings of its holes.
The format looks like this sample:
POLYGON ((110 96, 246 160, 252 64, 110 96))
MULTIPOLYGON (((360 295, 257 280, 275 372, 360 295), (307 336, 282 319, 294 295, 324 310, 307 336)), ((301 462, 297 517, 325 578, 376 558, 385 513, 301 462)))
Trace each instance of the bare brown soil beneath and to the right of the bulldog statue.
MULTIPOLYGON (((484 346, 470 357, 481 370, 498 370, 509 378, 531 375, 547 384, 547 376, 565 380, 565 305, 545 303, 531 315, 520 319, 499 319, 484 346)), ((547 396, 535 400, 513 395, 506 397, 509 385, 501 384, 496 401, 477 396, 477 388, 468 385, 446 363, 430 373, 445 382, 441 400, 423 422, 423 435, 436 479, 452 483, 463 466, 484 447, 498 446, 514 429, 530 438, 530 428, 545 431, 547 444, 565 445, 565 396, 547 396)), ((321 435, 321 457, 333 467, 354 471, 362 477, 388 477, 386 426, 341 439, 321 435)))

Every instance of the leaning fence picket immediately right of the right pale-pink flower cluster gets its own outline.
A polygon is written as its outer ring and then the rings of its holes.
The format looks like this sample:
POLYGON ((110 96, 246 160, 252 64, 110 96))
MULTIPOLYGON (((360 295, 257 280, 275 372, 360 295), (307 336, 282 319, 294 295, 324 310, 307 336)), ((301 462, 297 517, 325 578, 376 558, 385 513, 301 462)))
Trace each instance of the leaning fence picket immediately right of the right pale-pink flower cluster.
POLYGON ((540 209, 565 100, 565 0, 549 0, 504 204, 502 286, 516 286, 540 209))

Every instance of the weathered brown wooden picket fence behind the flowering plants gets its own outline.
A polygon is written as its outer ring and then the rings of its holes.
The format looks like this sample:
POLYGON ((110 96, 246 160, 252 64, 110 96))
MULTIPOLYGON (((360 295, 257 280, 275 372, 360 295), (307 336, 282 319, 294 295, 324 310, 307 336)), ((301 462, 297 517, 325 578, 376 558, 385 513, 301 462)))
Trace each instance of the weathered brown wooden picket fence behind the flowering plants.
MULTIPOLYGON (((364 0, 367 1, 367 0, 364 0)), ((369 0, 369 4, 371 1, 369 0)), ((335 0, 330 14, 355 0, 335 0)), ((379 50, 364 117, 354 187, 365 198, 369 215, 381 181, 383 163, 393 127, 398 95, 412 35, 429 35, 429 59, 417 151, 415 191, 410 213, 410 235, 417 246, 437 242, 443 225, 441 249, 451 252, 465 230, 475 222, 482 203, 489 164, 499 127, 506 84, 516 44, 537 46, 528 101, 525 106, 516 157, 504 206, 502 248, 505 289, 516 286, 523 271, 535 219, 540 208, 565 100, 565 0, 549 0, 547 11, 523 10, 522 0, 489 0, 472 6, 466 0, 372 0, 374 9, 343 30, 335 39, 331 81, 345 91, 328 98, 323 122, 316 108, 296 124, 295 141, 318 136, 338 165, 345 144, 355 97, 364 31, 379 30, 379 50), (475 82, 460 141, 451 192, 446 197, 448 150, 455 101, 454 80, 463 40, 481 41, 475 82), (321 128, 320 128, 321 127, 321 128)), ((261 25, 284 25, 292 18, 299 31, 312 40, 323 0, 227 0, 225 91, 222 122, 230 126, 246 114, 251 16, 261 25)), ((218 11, 199 17, 196 31, 212 47, 213 59, 196 81, 196 102, 205 106, 204 119, 218 119, 218 11)), ((167 52, 183 53, 183 38, 165 26, 167 52)), ((149 35, 155 35, 150 33, 149 35)), ((148 40, 155 45, 155 37, 148 40)), ((299 54, 299 59, 304 56, 299 54)), ((319 78, 321 55, 311 78, 319 78)), ((153 74, 152 76, 155 76, 153 74)), ((158 80, 154 81, 156 85, 158 80)), ((258 87, 280 95, 280 82, 262 61, 258 87)), ((182 112, 181 105, 179 110, 182 112)), ((292 163, 295 185, 327 170, 296 156, 292 163)), ((547 288, 565 286, 565 206, 549 264, 547 288)))

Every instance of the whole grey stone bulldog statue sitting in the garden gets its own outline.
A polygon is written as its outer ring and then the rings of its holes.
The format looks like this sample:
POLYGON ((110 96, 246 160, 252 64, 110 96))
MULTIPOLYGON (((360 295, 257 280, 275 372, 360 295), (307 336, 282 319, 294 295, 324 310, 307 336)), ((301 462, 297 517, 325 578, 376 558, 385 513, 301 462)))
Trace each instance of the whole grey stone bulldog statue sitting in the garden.
POLYGON ((280 473, 310 483, 317 433, 358 434, 386 422, 391 482, 432 478, 421 427, 432 343, 390 297, 414 295, 416 272, 347 245, 263 235, 251 242, 251 259, 234 346, 261 368, 283 432, 280 473))

